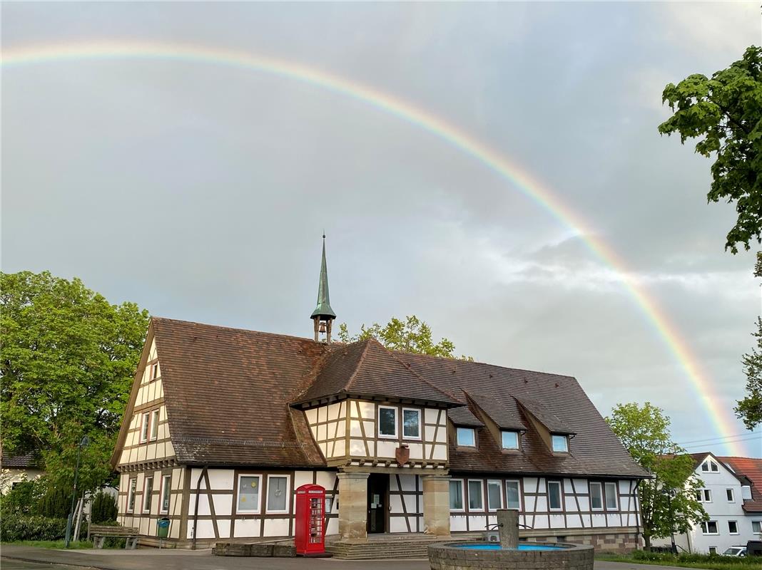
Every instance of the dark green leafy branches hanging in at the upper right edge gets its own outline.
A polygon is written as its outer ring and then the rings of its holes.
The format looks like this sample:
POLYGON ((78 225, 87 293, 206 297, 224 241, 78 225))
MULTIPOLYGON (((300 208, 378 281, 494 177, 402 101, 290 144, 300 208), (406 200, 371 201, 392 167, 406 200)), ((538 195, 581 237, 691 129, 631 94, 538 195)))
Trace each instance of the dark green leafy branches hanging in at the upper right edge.
POLYGON ((725 249, 738 253, 762 240, 762 48, 751 46, 743 59, 712 78, 689 75, 662 94, 674 111, 659 132, 680 133, 680 141, 700 139, 696 152, 712 164, 710 202, 735 202, 738 219, 725 249))

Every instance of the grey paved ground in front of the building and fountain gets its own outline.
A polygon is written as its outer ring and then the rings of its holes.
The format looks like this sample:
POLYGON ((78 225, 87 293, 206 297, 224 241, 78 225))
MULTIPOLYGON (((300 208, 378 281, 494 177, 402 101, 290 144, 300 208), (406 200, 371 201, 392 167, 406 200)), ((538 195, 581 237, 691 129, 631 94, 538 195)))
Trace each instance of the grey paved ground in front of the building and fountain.
MULTIPOLYGON (((207 550, 53 550, 4 545, 2 570, 429 570, 425 560, 235 558, 207 550)), ((684 570, 629 562, 595 562, 595 570, 684 570)))

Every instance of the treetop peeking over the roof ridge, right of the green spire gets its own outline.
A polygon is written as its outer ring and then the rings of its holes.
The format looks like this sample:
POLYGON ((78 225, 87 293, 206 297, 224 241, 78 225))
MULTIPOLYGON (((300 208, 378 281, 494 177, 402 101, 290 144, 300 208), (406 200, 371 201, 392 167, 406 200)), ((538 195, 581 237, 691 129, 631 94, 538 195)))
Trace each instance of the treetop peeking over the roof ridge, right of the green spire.
MULTIPOLYGON (((398 352, 414 352, 416 354, 457 358, 454 355, 455 345, 448 339, 434 342, 431 327, 415 315, 405 317, 405 320, 392 317, 386 325, 373 323, 372 326, 360 326, 360 333, 352 336, 347 323, 338 327, 338 338, 341 342, 356 342, 358 340, 376 339, 389 350, 398 352)), ((473 360, 470 356, 461 356, 463 360, 473 360)))

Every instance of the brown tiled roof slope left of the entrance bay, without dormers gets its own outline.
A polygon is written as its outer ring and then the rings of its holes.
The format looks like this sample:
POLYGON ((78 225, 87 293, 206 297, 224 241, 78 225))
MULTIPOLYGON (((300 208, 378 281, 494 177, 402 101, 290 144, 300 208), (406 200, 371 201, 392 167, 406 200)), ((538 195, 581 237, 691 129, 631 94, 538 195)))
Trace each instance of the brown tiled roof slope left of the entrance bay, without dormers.
POLYGON ((308 339, 152 320, 172 444, 180 463, 322 466, 288 402, 324 346, 308 339))

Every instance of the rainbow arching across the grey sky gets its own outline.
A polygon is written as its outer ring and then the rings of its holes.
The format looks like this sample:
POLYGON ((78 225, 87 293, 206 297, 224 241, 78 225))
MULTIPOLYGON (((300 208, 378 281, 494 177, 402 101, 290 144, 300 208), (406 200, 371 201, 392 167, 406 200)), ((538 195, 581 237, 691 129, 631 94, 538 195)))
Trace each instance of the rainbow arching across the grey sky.
MULTIPOLYGON (((194 62, 210 65, 227 65, 235 68, 245 68, 301 81, 328 91, 333 91, 344 97, 351 97, 367 103, 377 110, 396 116, 407 123, 424 129, 438 139, 448 142, 459 151, 479 161, 485 167, 511 183, 524 196, 536 202, 549 213, 559 224, 562 224, 583 240, 585 246, 600 262, 610 266, 619 276, 620 282, 632 297, 639 309, 645 315, 649 326, 667 346, 669 352, 680 364, 690 384, 693 386, 698 400, 706 409, 715 430, 725 439, 725 446, 732 455, 744 455, 743 447, 738 441, 732 441, 735 431, 735 418, 729 410, 720 406, 721 398, 709 377, 700 370, 699 360, 691 354, 690 349, 667 315, 658 307, 652 298, 648 298, 639 288, 635 279, 626 269, 625 263, 594 233, 587 230, 586 224, 566 206, 559 196, 546 189, 526 170, 511 163, 501 156, 498 151, 474 139, 456 126, 444 119, 434 116, 419 107, 391 94, 371 88, 367 85, 350 81, 337 75, 331 75, 319 69, 300 65, 295 62, 255 56, 251 53, 231 49, 219 49, 210 46, 195 46, 182 43, 161 43, 152 41, 93 41, 76 44, 21 46, 4 49, 2 67, 14 68, 21 65, 37 65, 53 62, 66 62, 82 59, 162 59, 180 62, 194 62)), ((718 438, 719 439, 719 438, 718 438)), ((737 438, 735 438, 737 439, 737 438)))

